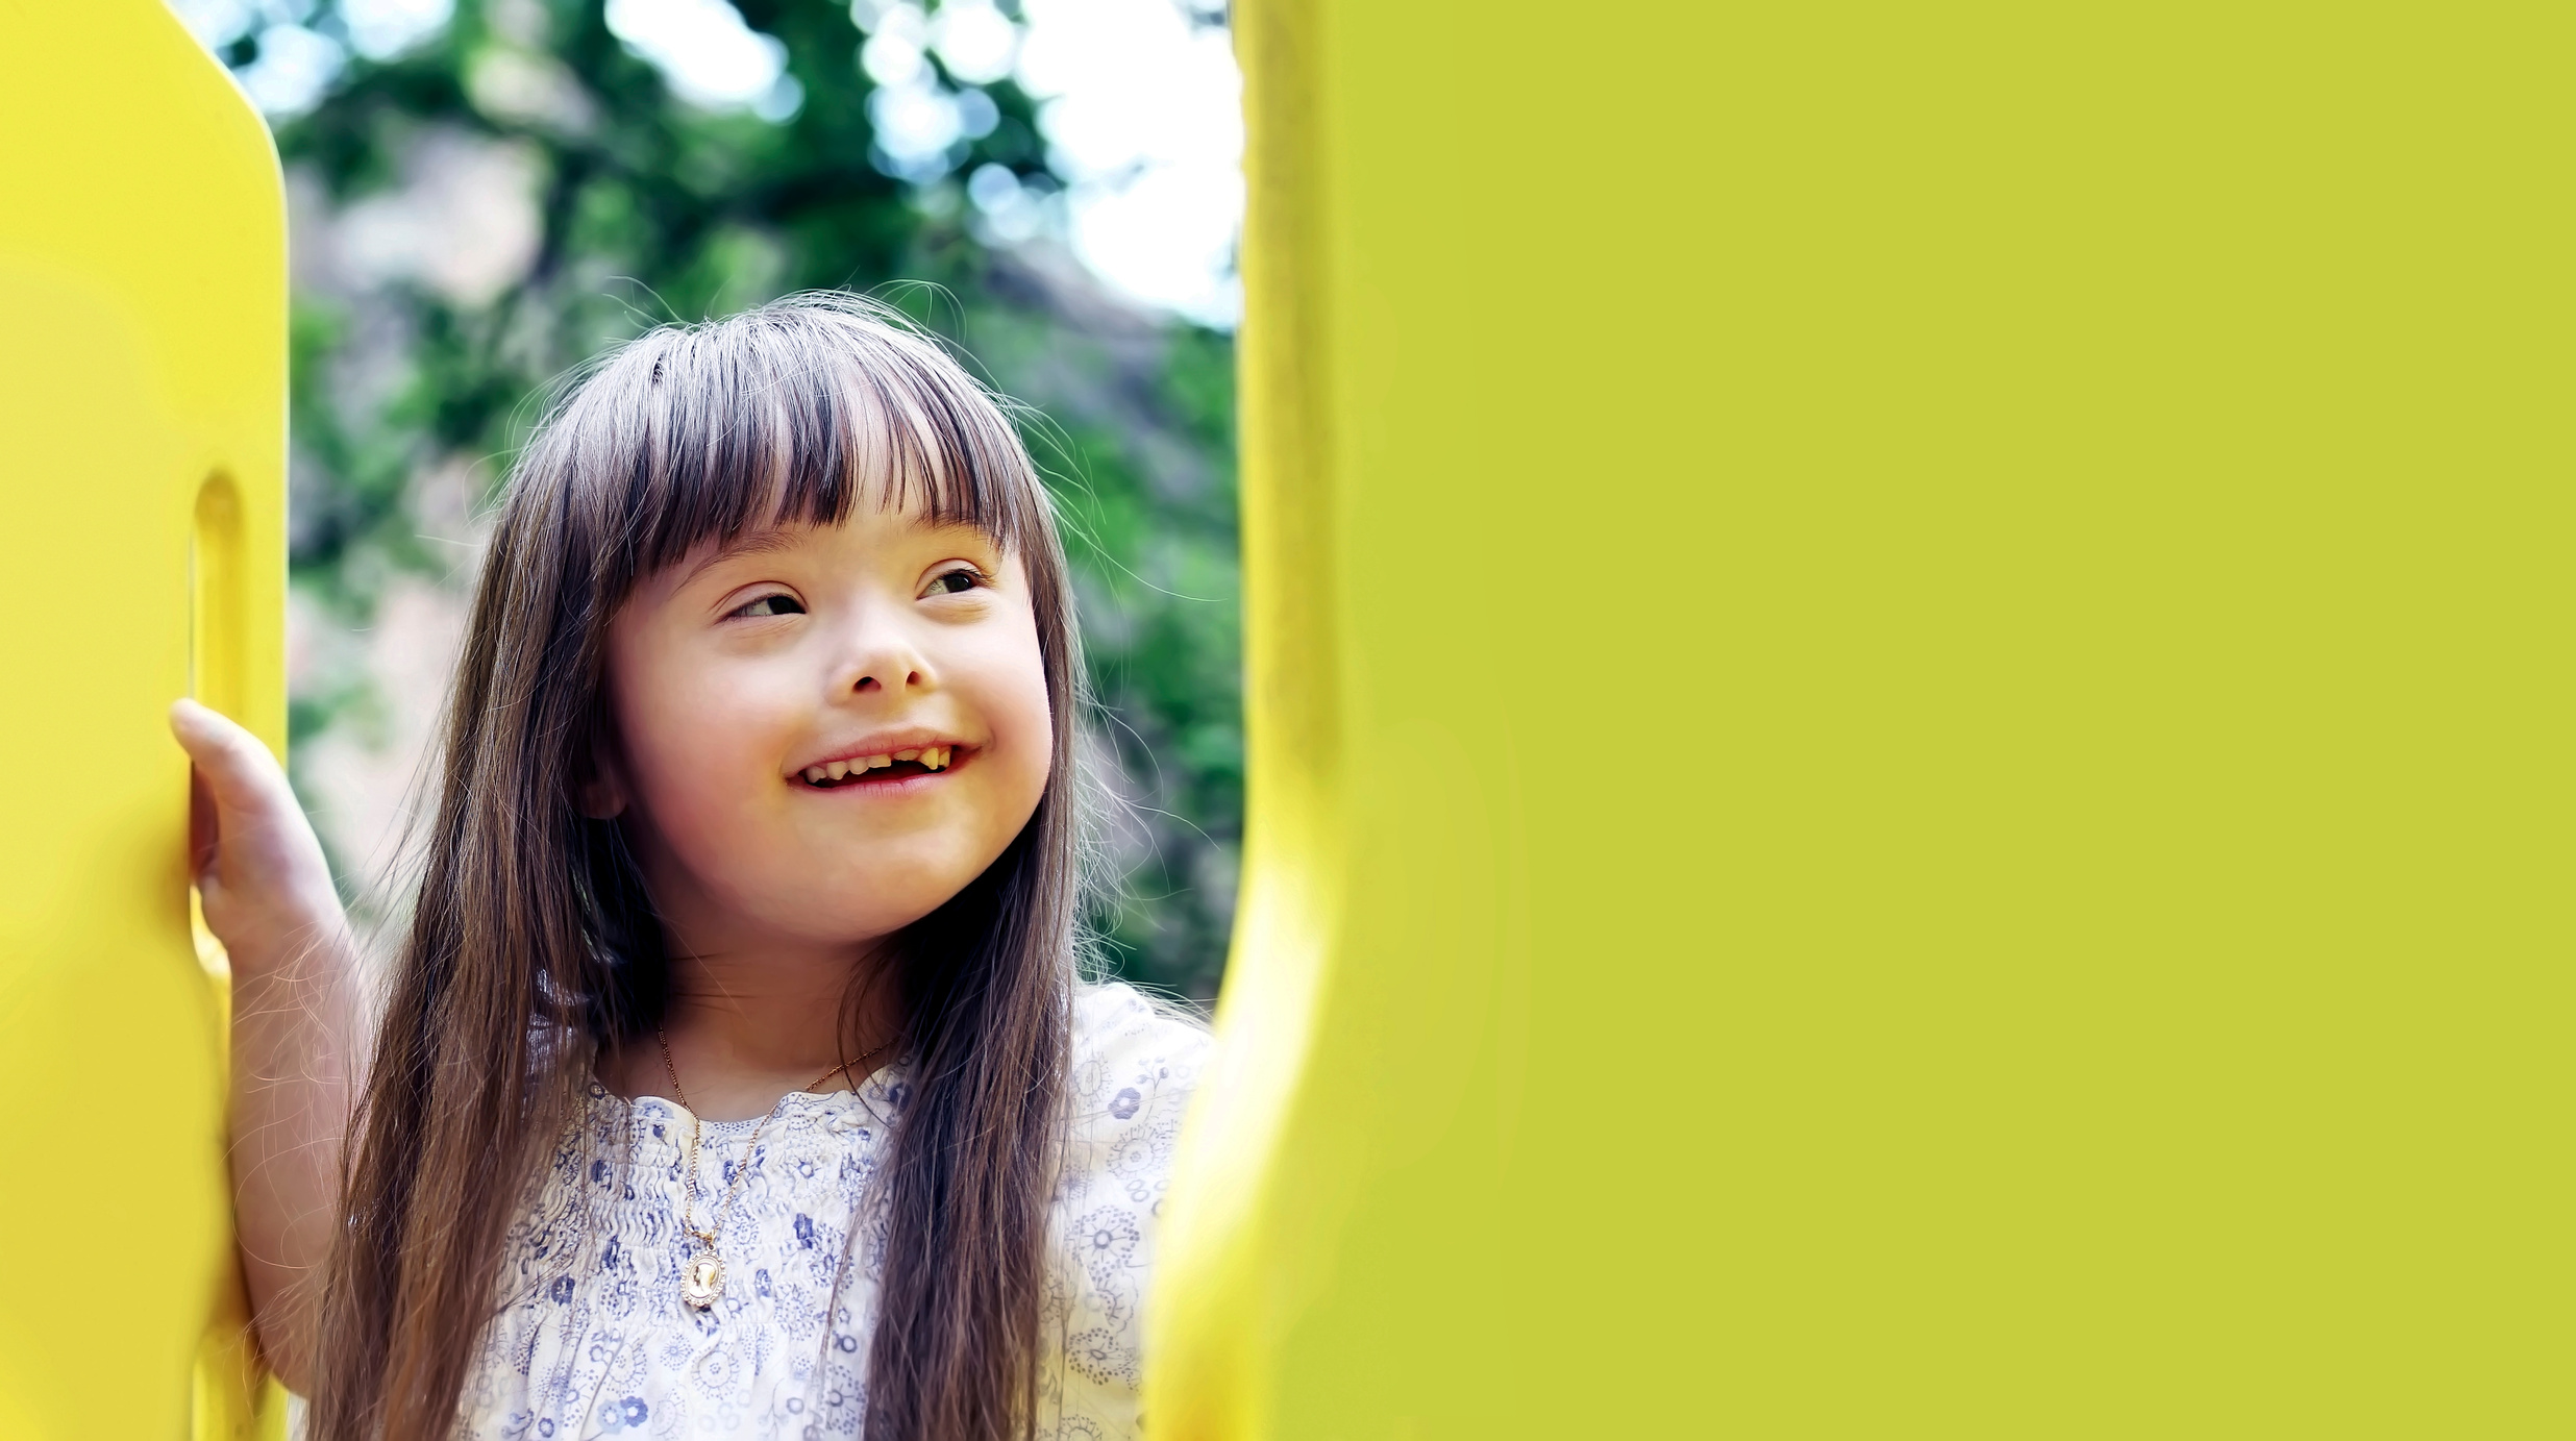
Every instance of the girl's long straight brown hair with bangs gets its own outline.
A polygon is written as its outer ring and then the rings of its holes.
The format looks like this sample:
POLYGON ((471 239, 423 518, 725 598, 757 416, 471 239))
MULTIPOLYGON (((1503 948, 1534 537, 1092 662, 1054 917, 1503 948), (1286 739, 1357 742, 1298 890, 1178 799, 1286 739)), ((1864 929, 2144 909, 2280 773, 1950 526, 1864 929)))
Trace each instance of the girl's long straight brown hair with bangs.
POLYGON ((1025 1436, 1079 918, 1064 552, 989 392, 896 314, 799 296, 636 338, 564 392, 510 477, 350 1132, 317 1441, 453 1431, 513 1214, 600 1047, 659 1021, 670 972, 644 879, 618 822, 574 804, 608 724, 611 616, 703 541, 871 503, 981 526, 1020 557, 1054 768, 1010 851, 894 949, 909 1096, 884 1170, 866 1436, 1025 1436))

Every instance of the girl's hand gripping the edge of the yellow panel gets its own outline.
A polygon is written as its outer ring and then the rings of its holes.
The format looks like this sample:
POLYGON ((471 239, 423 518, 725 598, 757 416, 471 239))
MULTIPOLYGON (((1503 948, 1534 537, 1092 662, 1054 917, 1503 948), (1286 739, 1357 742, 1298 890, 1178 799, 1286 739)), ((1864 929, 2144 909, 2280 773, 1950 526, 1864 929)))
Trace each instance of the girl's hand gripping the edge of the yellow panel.
POLYGON ((268 974, 317 943, 343 946, 348 913, 322 843, 260 737, 196 701, 170 706, 170 732, 196 760, 188 869, 234 974, 268 974))

